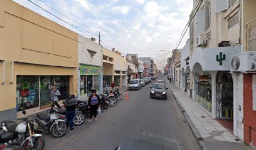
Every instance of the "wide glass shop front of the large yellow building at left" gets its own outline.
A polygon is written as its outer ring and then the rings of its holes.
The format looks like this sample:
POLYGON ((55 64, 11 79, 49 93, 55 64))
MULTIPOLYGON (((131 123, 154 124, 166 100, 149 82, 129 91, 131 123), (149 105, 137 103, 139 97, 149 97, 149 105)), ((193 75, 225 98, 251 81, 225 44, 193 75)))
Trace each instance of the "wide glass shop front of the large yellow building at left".
POLYGON ((17 76, 16 110, 50 105, 53 85, 60 91, 60 99, 67 99, 70 96, 69 79, 69 76, 17 76))

